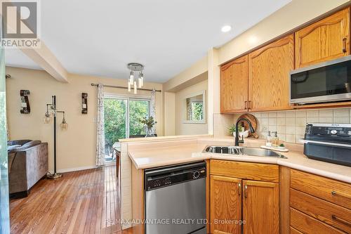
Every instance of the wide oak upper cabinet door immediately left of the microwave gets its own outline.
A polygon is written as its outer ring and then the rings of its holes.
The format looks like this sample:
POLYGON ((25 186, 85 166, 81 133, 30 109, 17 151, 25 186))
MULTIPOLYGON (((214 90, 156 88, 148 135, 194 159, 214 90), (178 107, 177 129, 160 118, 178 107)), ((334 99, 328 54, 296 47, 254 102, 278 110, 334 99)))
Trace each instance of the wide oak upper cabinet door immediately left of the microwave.
POLYGON ((289 72, 293 58, 292 34, 249 54, 251 111, 291 109, 289 72))

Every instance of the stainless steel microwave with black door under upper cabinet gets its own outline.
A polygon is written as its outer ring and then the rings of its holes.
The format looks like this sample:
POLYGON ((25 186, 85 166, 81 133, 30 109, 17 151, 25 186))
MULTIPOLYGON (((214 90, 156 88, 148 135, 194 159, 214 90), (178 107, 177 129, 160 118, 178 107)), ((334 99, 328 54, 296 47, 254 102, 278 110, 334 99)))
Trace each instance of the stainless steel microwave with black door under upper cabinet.
POLYGON ((290 103, 351 100, 351 56, 290 72, 290 103))

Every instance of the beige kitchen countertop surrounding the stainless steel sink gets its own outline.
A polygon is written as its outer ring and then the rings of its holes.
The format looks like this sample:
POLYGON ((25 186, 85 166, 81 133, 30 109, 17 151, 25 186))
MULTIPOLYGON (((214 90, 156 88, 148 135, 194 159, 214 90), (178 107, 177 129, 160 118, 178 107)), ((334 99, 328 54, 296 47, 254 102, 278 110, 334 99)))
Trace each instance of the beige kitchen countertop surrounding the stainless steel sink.
MULTIPOLYGON (((162 167, 171 164, 185 162, 196 162, 201 160, 233 160, 242 162, 258 162, 279 164, 285 167, 310 172, 320 176, 334 178, 338 181, 351 183, 351 167, 338 164, 331 164, 317 160, 310 160, 302 151, 283 152, 287 159, 275 157, 257 157, 248 155, 225 155, 202 152, 206 145, 233 145, 232 138, 198 138, 192 141, 163 142, 163 143, 143 143, 137 147, 128 147, 128 156, 137 169, 148 169, 152 167, 162 167)), ((246 146, 259 147, 263 141, 246 140, 246 146)), ((132 145, 131 145, 132 146, 132 145)), ((134 145, 135 146, 135 145, 134 145)), ((301 150, 302 145, 286 145, 287 148, 301 150), (289 147, 290 146, 290 147, 289 147)))

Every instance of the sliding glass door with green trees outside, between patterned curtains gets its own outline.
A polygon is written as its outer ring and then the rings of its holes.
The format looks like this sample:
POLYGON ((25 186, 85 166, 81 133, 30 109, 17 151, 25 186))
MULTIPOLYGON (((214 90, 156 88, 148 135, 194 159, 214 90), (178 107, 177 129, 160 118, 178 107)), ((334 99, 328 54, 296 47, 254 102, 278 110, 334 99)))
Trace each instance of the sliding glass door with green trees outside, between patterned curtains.
POLYGON ((150 99, 105 96, 105 161, 113 162, 119 139, 143 137, 140 119, 150 115, 150 99))

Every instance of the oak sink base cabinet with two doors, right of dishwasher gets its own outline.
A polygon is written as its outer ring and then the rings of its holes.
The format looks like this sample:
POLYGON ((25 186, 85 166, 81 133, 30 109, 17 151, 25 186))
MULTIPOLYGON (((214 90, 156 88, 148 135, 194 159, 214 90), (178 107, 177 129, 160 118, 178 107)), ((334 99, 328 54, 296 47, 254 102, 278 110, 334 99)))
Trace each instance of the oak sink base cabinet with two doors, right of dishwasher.
POLYGON ((210 174, 211 233, 279 233, 277 165, 211 160, 210 174))

